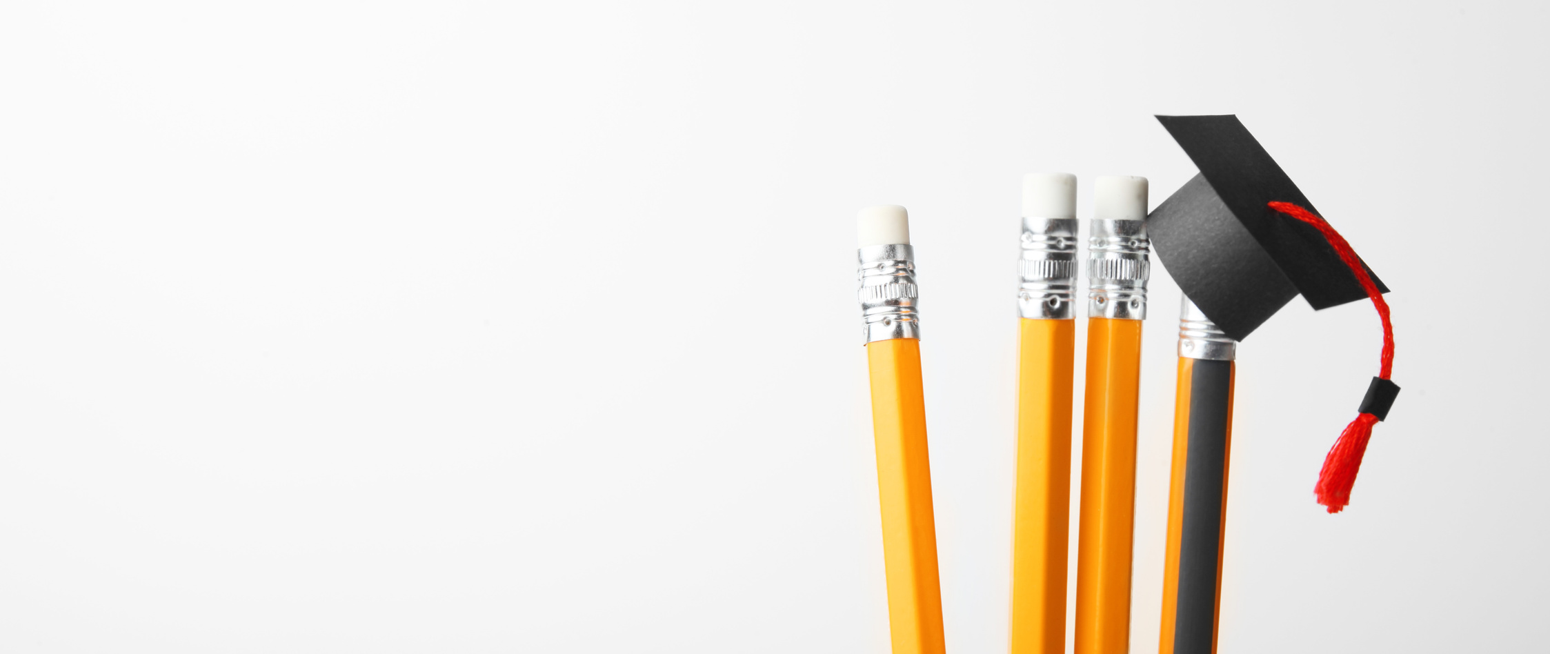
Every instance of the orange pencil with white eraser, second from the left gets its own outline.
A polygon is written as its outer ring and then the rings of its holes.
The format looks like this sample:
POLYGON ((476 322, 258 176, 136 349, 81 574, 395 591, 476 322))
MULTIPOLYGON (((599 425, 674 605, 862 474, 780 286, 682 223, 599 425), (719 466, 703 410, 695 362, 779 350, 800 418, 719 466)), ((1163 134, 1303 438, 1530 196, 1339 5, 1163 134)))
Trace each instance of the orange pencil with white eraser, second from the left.
POLYGON ((1076 236, 1076 177, 1023 177, 1012 654, 1065 652, 1076 236))

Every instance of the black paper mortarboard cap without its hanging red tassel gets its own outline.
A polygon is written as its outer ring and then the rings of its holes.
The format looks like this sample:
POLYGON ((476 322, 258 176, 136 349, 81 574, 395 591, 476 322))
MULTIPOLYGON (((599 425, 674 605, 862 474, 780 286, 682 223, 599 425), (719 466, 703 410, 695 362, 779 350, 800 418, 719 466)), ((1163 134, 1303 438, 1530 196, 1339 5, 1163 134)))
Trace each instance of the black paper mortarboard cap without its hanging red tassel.
POLYGON ((1158 121, 1200 175, 1147 215, 1147 236, 1178 287, 1228 336, 1245 339, 1297 293, 1313 308, 1367 299, 1319 229, 1268 206, 1318 212, 1237 116, 1158 121))

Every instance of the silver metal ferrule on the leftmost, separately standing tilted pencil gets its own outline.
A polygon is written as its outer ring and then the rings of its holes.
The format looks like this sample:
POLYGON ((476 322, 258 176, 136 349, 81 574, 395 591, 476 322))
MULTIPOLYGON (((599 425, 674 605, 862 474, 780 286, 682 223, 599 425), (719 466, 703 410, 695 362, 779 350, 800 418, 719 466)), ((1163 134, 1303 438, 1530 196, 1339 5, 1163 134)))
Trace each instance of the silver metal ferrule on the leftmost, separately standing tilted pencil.
POLYGON ((856 251, 860 267, 857 299, 866 342, 921 338, 921 288, 914 285, 914 248, 907 243, 868 245, 856 251))

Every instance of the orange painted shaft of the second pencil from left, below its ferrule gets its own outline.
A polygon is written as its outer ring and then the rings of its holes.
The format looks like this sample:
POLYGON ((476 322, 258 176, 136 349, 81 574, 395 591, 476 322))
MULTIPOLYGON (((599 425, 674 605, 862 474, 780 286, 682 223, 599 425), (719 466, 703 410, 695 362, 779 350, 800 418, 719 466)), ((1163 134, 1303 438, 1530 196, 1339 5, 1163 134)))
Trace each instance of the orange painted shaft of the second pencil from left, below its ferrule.
POLYGON ((1018 322, 1011 652, 1062 654, 1076 321, 1018 322))

